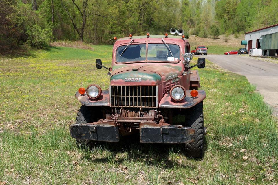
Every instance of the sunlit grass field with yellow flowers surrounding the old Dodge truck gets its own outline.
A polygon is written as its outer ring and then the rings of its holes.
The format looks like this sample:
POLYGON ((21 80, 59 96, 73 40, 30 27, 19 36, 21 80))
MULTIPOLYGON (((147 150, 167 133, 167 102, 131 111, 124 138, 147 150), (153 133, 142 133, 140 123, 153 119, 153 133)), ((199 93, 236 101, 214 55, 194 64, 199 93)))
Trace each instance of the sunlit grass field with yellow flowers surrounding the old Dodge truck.
MULTIPOLYGON (((203 159, 181 145, 128 138, 79 149, 69 136, 80 106, 74 94, 108 88, 112 46, 51 47, 0 58, 0 184, 277 184, 277 120, 243 76, 211 62, 200 69, 208 127, 203 159)), ((193 59, 196 62, 196 58, 193 59)))

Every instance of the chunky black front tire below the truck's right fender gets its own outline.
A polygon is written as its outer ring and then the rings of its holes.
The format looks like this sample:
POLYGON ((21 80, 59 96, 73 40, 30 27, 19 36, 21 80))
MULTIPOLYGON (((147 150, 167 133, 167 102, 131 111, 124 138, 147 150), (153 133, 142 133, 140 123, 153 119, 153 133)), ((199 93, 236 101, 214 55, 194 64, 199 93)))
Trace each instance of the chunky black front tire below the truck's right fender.
POLYGON ((186 155, 201 158, 204 155, 203 102, 190 108, 186 113, 186 126, 195 129, 194 141, 185 143, 186 155))

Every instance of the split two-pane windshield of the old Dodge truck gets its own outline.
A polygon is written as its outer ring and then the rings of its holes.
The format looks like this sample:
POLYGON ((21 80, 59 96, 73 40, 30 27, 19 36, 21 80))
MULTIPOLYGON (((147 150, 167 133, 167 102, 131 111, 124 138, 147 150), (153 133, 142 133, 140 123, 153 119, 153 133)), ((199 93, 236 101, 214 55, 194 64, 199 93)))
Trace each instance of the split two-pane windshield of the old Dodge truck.
POLYGON ((148 58, 146 58, 146 44, 129 45, 126 51, 121 55, 127 45, 119 46, 116 51, 117 62, 136 62, 136 61, 169 61, 178 62, 180 60, 180 47, 175 44, 148 44, 148 58))

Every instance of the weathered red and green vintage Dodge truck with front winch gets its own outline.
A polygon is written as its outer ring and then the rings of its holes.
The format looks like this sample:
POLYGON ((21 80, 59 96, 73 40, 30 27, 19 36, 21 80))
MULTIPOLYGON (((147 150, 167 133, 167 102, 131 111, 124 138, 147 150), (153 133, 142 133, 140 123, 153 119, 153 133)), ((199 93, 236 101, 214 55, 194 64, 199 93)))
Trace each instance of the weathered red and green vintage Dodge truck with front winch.
POLYGON ((141 143, 185 143, 186 154, 203 156, 203 100, 200 77, 190 66, 188 40, 181 36, 132 36, 116 40, 112 66, 96 59, 96 68, 109 70, 109 89, 96 84, 79 88, 82 104, 70 134, 78 143, 118 142, 139 132, 141 143), (179 118, 178 118, 179 117, 179 118), (177 119, 178 118, 178 119, 177 119))

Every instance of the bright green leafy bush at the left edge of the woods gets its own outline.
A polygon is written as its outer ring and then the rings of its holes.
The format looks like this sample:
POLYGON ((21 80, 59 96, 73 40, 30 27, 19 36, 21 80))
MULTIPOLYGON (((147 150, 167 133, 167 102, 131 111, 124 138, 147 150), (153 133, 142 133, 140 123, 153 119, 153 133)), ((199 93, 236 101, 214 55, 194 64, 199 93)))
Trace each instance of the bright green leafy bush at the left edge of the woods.
POLYGON ((45 49, 52 40, 51 28, 42 29, 37 24, 28 27, 26 34, 28 35, 28 44, 35 48, 45 49))

